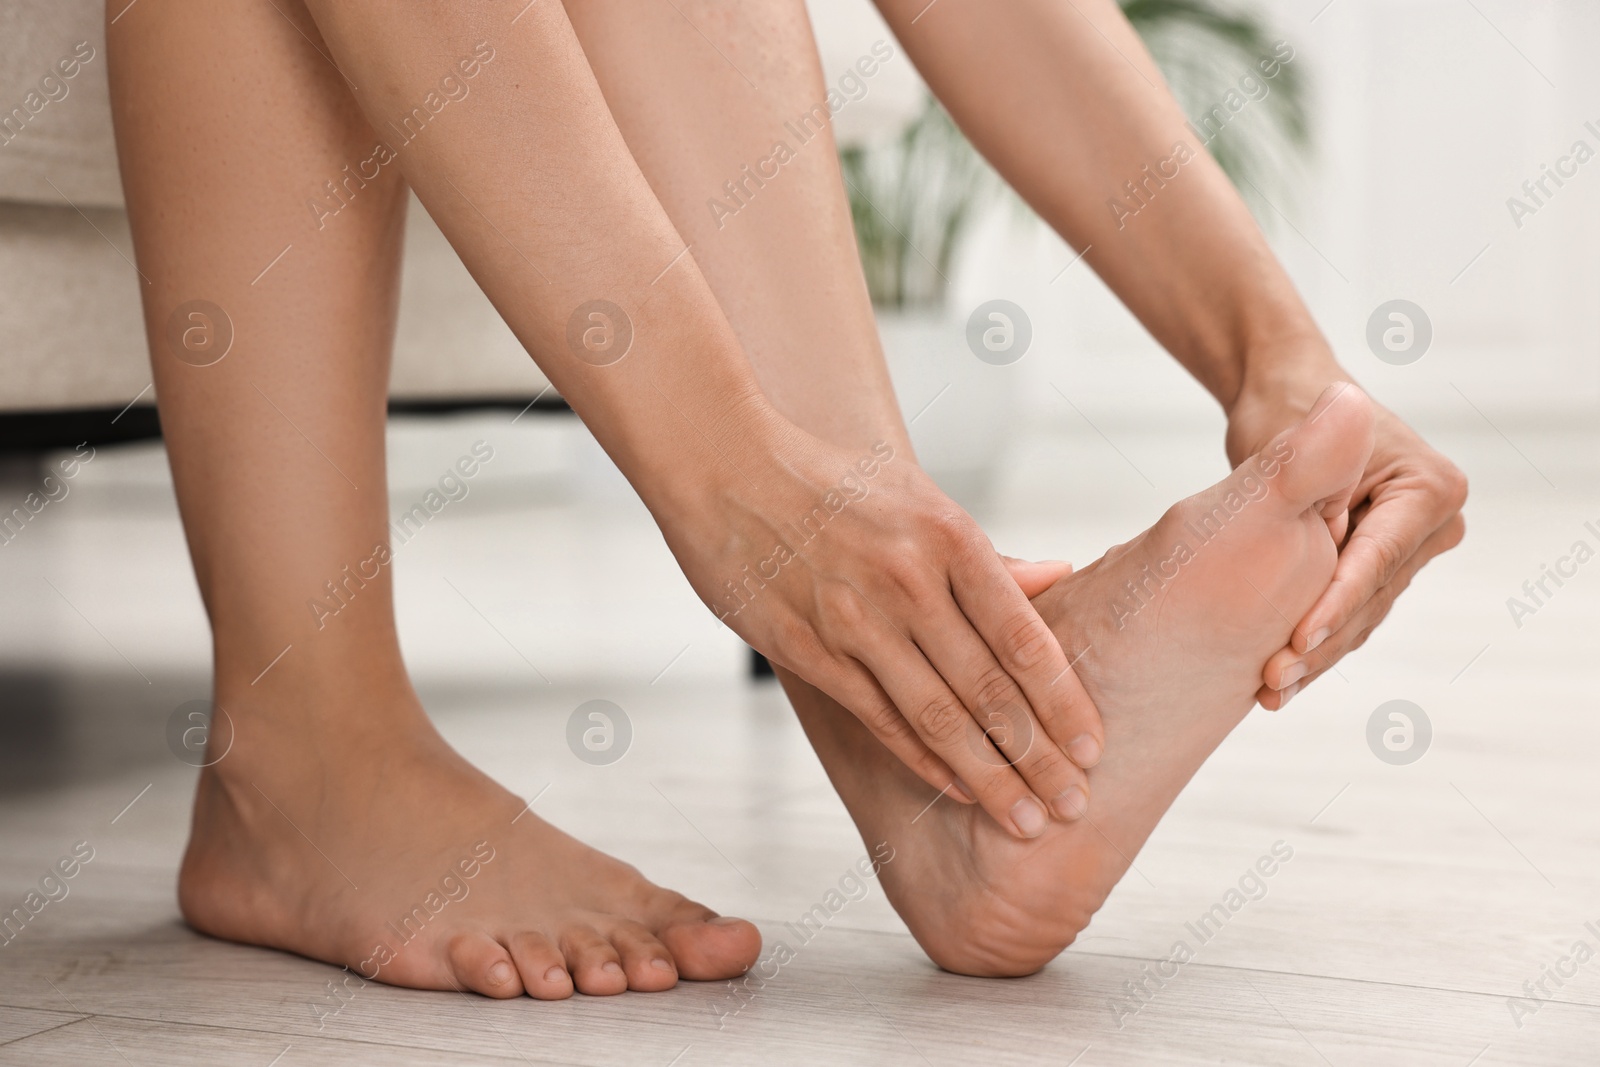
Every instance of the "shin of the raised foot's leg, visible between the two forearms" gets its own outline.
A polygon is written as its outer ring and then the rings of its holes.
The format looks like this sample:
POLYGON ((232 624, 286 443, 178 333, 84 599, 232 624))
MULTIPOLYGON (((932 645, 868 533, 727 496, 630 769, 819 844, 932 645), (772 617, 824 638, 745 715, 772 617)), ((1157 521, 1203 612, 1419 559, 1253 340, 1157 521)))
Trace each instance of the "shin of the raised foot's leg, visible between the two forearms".
POLYGON ((910 456, 832 130, 802 142, 786 126, 827 93, 805 3, 752 0, 738 18, 707 0, 568 0, 566 10, 627 147, 693 248, 762 390, 822 440, 862 451, 886 440, 910 456), (794 158, 757 186, 747 168, 779 141, 794 158), (730 181, 744 182, 747 206, 720 216, 707 202, 726 203, 730 181))

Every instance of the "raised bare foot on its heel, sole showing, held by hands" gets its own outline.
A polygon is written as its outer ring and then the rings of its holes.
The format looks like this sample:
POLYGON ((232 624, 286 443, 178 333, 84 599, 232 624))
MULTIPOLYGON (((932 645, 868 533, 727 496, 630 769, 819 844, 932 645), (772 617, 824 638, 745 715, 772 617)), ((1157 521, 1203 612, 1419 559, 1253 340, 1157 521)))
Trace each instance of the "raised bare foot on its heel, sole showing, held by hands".
POLYGON ((1106 718, 1088 817, 1035 840, 949 798, 930 806, 854 717, 786 677, 862 838, 894 848, 885 891, 939 966, 1030 974, 1088 925, 1328 585, 1371 440, 1366 397, 1330 389, 1224 482, 1034 600, 1106 718))

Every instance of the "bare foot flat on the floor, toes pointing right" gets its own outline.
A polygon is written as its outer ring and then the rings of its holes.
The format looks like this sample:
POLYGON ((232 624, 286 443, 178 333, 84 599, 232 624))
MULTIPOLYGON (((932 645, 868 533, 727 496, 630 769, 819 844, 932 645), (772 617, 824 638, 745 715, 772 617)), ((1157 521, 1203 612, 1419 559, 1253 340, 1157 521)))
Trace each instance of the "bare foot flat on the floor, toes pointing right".
POLYGON ((370 981, 541 1000, 726 979, 755 960, 750 923, 522 811, 410 693, 392 699, 403 713, 382 736, 307 713, 317 726, 275 723, 203 773, 178 885, 195 929, 370 981))

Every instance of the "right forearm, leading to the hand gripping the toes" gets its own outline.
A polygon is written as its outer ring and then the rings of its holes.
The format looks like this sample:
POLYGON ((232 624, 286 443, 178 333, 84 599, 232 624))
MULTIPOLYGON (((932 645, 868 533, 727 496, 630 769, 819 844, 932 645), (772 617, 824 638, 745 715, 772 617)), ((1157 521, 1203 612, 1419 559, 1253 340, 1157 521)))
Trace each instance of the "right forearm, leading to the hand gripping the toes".
POLYGON ((1246 378, 1336 373, 1114 0, 878 6, 978 149, 1224 408, 1246 378))

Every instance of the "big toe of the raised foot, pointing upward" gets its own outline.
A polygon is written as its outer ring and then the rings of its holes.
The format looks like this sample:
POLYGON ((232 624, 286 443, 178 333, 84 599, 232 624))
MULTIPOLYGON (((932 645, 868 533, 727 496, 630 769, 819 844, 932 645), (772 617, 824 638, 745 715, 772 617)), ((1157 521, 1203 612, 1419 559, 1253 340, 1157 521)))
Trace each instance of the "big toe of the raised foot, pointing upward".
POLYGON ((1349 504, 1373 453, 1373 402, 1357 386, 1328 386, 1310 413, 1246 461, 1291 514, 1325 517, 1349 504))

